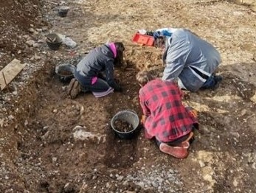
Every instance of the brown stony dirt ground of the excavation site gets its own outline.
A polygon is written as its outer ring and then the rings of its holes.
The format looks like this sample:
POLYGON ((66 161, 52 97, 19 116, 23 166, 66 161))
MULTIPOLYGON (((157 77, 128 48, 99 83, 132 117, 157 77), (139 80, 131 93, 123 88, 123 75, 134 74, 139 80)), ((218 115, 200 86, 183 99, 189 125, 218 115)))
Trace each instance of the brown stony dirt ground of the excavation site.
POLYGON ((232 1, 0 0, 0 69, 27 66, 0 93, 0 192, 255 192, 256 13, 232 1), (67 17, 57 7, 70 7, 67 17), (184 27, 221 53, 215 91, 187 92, 200 133, 183 160, 159 152, 143 129, 121 140, 110 127, 119 110, 139 116, 135 74, 161 77, 161 52, 131 41, 139 29, 184 27), (77 43, 52 51, 45 35, 77 43), (122 93, 70 99, 55 74, 94 46, 125 43, 122 93))

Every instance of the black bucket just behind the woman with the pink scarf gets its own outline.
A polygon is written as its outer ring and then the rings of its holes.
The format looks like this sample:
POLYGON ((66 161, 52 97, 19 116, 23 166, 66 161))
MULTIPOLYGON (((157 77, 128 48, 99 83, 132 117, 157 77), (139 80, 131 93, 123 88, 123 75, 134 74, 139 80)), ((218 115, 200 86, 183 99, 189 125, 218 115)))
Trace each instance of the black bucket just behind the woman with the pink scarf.
POLYGON ((64 83, 69 82, 74 77, 75 66, 69 63, 61 63, 55 67, 55 73, 64 83))

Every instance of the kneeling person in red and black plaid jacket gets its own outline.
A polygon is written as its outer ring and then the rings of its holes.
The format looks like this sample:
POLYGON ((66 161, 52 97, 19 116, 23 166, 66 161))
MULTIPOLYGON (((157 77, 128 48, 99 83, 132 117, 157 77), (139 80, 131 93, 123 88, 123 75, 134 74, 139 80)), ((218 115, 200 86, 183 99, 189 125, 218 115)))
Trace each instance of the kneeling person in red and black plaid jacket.
POLYGON ((193 141, 193 130, 198 128, 197 114, 185 108, 182 92, 173 81, 154 78, 149 71, 140 71, 136 80, 145 138, 154 138, 159 150, 176 158, 186 158, 193 141))

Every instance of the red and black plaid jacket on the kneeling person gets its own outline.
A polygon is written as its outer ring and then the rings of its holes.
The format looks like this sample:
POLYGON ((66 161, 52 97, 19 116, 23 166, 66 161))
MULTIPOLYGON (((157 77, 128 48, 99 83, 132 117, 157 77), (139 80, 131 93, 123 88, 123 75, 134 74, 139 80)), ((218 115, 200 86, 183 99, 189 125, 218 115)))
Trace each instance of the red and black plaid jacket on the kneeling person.
POLYGON ((181 90, 171 81, 152 80, 139 90, 139 102, 145 121, 145 137, 162 142, 187 135, 196 118, 182 105, 181 90))

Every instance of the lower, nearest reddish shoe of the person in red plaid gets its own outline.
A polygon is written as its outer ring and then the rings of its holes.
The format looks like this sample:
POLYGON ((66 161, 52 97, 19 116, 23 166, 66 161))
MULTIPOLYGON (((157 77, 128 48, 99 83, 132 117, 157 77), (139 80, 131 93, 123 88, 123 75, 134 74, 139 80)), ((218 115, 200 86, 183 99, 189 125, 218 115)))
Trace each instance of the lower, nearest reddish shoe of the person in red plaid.
POLYGON ((186 158, 188 155, 187 148, 184 147, 172 147, 165 143, 161 143, 159 146, 160 151, 165 152, 169 155, 172 155, 175 158, 186 158))

